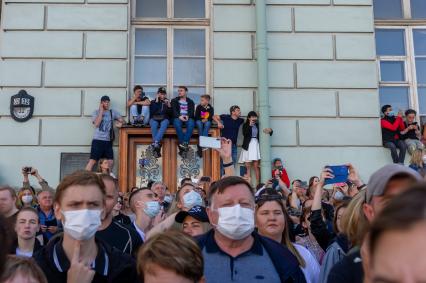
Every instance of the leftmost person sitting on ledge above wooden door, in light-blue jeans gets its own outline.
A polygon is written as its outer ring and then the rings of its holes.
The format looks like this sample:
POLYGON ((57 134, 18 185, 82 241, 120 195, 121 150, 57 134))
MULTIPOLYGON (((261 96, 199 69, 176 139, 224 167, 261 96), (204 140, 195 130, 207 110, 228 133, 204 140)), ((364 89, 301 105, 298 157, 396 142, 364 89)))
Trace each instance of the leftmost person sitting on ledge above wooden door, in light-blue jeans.
POLYGON ((130 107, 132 125, 148 125, 149 105, 149 97, 145 96, 145 92, 143 92, 143 88, 140 85, 136 85, 133 88, 133 97, 127 102, 127 107, 130 107))

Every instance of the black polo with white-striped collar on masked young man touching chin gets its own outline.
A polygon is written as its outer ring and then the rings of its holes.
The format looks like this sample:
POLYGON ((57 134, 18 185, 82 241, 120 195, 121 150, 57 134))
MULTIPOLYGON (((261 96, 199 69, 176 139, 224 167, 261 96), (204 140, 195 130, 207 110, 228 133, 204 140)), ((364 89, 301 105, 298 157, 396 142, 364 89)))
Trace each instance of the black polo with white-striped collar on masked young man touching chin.
MULTIPOLYGON (((67 282, 67 271, 59 271, 54 262, 54 250, 56 244, 61 245, 62 235, 54 237, 43 249, 33 255, 38 266, 43 270, 49 283, 66 283, 67 282)), ((99 275, 97 272, 93 278, 92 283, 107 282, 107 283, 137 283, 140 282, 136 273, 136 262, 130 256, 123 254, 121 251, 111 248, 101 240, 96 239, 99 251, 105 251, 108 256, 108 275, 105 277, 99 275)), ((56 248, 59 250, 58 248, 56 248)), ((56 251, 58 253, 58 251, 56 251)), ((60 256, 59 256, 60 258, 60 256)), ((68 259, 59 260, 61 266, 69 266, 68 259), (67 261, 67 262, 65 262, 67 261)), ((65 268, 64 268, 65 269, 65 268)))

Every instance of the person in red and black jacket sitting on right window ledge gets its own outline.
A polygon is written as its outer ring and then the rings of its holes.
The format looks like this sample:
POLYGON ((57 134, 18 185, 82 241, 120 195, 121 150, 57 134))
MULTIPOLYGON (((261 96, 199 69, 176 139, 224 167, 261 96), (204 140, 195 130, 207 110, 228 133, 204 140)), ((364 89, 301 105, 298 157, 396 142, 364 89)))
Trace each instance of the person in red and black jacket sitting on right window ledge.
POLYGON ((382 127, 383 146, 390 149, 393 163, 404 164, 407 146, 405 142, 400 139, 400 132, 405 129, 402 113, 399 112, 398 116, 395 117, 391 105, 383 106, 382 113, 383 118, 380 120, 380 123, 382 127), (397 149, 399 149, 399 155, 397 149))

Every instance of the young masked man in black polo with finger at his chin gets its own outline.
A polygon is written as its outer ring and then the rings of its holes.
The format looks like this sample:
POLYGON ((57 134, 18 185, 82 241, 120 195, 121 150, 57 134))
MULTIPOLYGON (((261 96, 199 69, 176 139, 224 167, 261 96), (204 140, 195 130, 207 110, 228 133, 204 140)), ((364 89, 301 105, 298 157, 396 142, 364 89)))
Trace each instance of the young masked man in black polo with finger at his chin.
POLYGON ((95 239, 105 209, 105 185, 92 172, 66 176, 56 189, 54 211, 64 234, 34 255, 49 283, 138 282, 135 261, 95 239))

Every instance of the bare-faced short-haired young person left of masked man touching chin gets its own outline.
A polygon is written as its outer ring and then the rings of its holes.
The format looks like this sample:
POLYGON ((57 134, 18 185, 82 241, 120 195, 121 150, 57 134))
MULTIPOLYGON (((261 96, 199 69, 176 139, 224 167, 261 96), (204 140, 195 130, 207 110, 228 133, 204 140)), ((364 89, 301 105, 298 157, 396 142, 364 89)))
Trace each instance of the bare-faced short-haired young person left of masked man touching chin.
POLYGON ((41 242, 36 238, 36 233, 40 230, 40 223, 37 210, 32 207, 22 208, 15 222, 15 232, 17 239, 12 247, 12 254, 22 257, 32 257, 41 249, 41 242))

